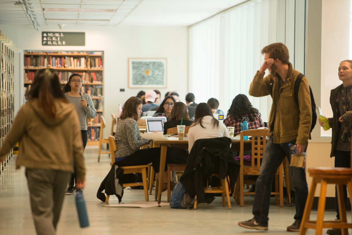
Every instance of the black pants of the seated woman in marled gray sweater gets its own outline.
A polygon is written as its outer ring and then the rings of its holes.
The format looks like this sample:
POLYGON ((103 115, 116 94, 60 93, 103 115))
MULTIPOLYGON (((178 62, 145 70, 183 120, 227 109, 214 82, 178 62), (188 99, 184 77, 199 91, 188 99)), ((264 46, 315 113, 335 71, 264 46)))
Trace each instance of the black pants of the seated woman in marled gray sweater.
MULTIPOLYGON (((160 171, 160 151, 161 148, 144 148, 137 150, 127 158, 119 161, 118 166, 135 166, 153 164, 155 173, 160 171)), ((169 147, 166 152, 166 164, 187 164, 188 151, 183 148, 169 147)), ((166 171, 168 168, 165 164, 166 171)))

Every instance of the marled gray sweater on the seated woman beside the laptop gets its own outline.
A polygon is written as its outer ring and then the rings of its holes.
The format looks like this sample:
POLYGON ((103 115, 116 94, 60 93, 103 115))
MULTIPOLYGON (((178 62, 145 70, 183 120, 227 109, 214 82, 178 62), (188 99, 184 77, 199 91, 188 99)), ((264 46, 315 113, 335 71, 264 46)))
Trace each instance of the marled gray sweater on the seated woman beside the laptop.
POLYGON ((115 158, 131 155, 151 140, 142 139, 137 121, 132 118, 121 119, 116 127, 115 141, 117 150, 115 158))

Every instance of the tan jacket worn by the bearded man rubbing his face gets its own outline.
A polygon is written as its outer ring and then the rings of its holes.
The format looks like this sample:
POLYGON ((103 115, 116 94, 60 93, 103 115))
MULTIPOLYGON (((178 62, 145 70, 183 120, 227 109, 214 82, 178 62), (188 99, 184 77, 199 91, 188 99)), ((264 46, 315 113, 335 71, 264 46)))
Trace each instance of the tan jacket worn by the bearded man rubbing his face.
POLYGON ((306 145, 309 139, 310 125, 312 125, 312 104, 310 101, 309 85, 306 77, 302 78, 298 90, 298 104, 294 97, 294 85, 300 74, 292 68, 289 70, 285 82, 279 88, 278 74, 264 74, 259 71, 253 78, 249 94, 260 97, 271 95, 272 106, 269 116, 269 133, 274 134, 274 143, 281 144, 296 140, 296 144, 306 145), (274 80, 274 84, 270 81, 274 80))

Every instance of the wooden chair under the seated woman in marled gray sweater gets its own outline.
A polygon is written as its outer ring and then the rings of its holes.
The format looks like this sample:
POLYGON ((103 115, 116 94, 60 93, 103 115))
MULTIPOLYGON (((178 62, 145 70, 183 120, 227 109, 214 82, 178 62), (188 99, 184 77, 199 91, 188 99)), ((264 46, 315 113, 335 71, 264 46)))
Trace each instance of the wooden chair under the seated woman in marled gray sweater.
MULTIPOLYGON (((117 150, 116 142, 114 136, 110 135, 108 137, 108 143, 109 143, 109 150, 111 153, 111 165, 114 164, 115 162, 115 151, 117 150)), ((121 169, 124 169, 124 174, 129 174, 129 173, 142 173, 142 179, 143 183, 128 183, 128 184, 122 184, 122 187, 130 187, 130 186, 143 186, 144 188, 144 196, 145 196, 145 201, 149 201, 149 196, 148 196, 148 184, 147 184, 147 171, 146 168, 150 168, 151 165, 138 165, 138 166, 120 166, 121 169)), ((110 195, 106 195, 106 200, 105 202, 109 202, 109 197, 110 195)))

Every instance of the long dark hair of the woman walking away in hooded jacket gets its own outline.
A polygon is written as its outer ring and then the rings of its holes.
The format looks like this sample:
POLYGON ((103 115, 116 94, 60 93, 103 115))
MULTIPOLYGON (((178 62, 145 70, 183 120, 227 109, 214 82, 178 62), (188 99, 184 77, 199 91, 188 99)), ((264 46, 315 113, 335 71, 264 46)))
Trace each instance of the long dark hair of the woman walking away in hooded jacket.
POLYGON ((59 78, 53 69, 40 69, 34 76, 29 101, 38 99, 40 108, 51 118, 56 116, 55 100, 68 103, 60 87, 59 78))

